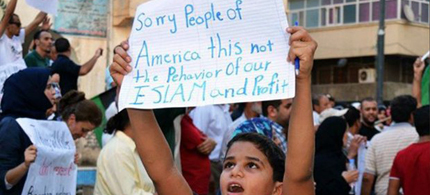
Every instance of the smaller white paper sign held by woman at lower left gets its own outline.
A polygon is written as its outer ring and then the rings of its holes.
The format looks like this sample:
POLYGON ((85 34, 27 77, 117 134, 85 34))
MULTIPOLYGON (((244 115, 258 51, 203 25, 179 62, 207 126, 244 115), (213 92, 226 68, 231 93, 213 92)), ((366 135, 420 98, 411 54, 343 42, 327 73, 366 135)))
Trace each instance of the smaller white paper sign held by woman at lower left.
POLYGON ((37 148, 22 195, 76 194, 75 142, 64 122, 19 118, 17 122, 37 148))

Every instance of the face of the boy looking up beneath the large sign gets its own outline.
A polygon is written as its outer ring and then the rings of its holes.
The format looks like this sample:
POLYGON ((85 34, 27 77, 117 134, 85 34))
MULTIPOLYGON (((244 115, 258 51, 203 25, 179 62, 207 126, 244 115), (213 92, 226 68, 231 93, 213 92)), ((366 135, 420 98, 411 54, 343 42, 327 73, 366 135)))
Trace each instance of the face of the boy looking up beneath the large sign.
POLYGON ((271 195, 282 193, 273 181, 273 168, 253 143, 238 141, 228 151, 221 174, 223 195, 271 195))

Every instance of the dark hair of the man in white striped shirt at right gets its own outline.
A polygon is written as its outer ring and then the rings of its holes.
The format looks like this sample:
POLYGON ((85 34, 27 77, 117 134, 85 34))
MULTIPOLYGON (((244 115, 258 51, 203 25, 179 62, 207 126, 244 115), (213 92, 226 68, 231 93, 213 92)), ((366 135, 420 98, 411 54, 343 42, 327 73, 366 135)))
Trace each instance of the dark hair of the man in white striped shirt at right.
POLYGON ((417 100, 410 95, 401 95, 391 101, 391 118, 396 123, 408 122, 417 109, 417 100))

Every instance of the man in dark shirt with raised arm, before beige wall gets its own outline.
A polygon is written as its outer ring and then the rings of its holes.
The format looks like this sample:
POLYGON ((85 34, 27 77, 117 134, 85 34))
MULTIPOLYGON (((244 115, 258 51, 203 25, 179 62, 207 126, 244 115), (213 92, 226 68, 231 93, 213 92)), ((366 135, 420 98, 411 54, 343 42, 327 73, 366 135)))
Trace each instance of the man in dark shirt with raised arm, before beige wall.
POLYGON ((70 56, 72 48, 65 38, 59 38, 55 41, 55 50, 58 53, 57 60, 52 64, 52 71, 60 75, 60 87, 62 95, 70 90, 78 89, 78 77, 88 74, 96 64, 103 50, 97 49, 94 56, 82 66, 75 64, 70 56))

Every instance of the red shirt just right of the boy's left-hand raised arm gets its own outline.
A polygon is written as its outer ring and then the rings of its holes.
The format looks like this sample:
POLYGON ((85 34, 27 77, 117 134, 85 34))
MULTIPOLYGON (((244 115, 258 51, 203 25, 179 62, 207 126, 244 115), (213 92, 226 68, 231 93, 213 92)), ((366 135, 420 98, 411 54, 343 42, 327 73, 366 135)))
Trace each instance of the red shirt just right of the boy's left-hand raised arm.
POLYGON ((211 163, 209 156, 197 151, 197 146, 206 139, 186 114, 181 121, 181 166, 182 175, 191 189, 200 195, 209 193, 211 163))

